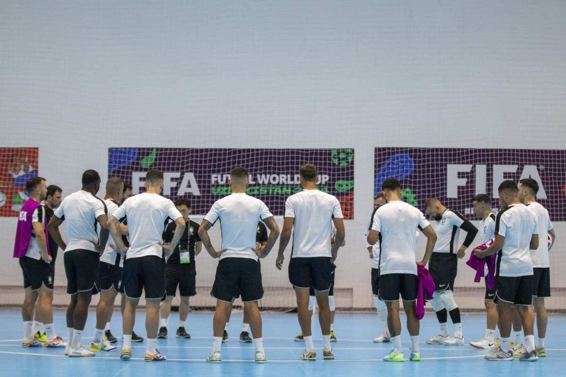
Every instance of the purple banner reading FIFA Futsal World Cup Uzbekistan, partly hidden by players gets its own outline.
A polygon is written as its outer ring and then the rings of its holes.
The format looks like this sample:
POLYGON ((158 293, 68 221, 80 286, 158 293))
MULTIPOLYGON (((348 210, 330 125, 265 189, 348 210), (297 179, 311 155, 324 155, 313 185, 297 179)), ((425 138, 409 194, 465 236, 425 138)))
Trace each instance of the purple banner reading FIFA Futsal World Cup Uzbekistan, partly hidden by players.
POLYGON ((345 219, 354 218, 353 149, 220 149, 220 148, 110 148, 108 176, 131 183, 143 192, 145 172, 164 172, 163 195, 186 198, 192 213, 205 215, 212 204, 230 194, 230 170, 245 167, 247 193, 265 202, 273 215, 283 215, 285 199, 301 191, 299 168, 314 163, 317 187, 338 198, 345 219))

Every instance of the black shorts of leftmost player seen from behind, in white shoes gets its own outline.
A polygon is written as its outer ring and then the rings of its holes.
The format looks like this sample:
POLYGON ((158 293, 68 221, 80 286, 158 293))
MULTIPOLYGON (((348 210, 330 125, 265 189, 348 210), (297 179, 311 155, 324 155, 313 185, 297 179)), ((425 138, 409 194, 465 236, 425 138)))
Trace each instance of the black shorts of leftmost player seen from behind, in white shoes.
POLYGON ((99 291, 98 263, 100 254, 91 250, 76 249, 69 250, 63 254, 65 262, 65 275, 67 275, 67 294, 79 292, 99 291))

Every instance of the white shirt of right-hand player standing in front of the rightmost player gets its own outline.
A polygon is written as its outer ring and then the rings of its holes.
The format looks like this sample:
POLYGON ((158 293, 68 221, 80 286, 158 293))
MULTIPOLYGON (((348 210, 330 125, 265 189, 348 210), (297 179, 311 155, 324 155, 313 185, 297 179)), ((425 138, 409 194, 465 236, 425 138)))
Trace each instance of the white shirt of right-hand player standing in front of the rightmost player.
POLYGON ((498 254, 498 276, 533 275, 530 240, 538 235, 537 216, 522 204, 512 204, 499 211, 495 218, 495 235, 505 237, 498 254))

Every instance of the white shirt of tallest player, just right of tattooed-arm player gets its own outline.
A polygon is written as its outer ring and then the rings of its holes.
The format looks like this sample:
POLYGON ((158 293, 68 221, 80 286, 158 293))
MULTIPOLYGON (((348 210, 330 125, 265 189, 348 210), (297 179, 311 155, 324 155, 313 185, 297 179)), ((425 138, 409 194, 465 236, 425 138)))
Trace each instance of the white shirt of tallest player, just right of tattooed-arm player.
POLYGON ((335 196, 302 190, 285 201, 285 217, 295 219, 291 258, 332 257, 332 219, 344 218, 335 196))

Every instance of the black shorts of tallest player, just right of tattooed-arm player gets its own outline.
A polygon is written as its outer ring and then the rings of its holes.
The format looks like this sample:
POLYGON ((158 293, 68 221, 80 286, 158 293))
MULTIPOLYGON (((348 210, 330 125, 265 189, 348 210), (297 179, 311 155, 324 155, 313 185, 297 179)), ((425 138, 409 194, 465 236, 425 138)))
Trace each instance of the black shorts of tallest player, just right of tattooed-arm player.
POLYGON ((295 288, 311 287, 315 291, 329 291, 332 286, 330 257, 298 257, 289 262, 289 281, 295 288))

